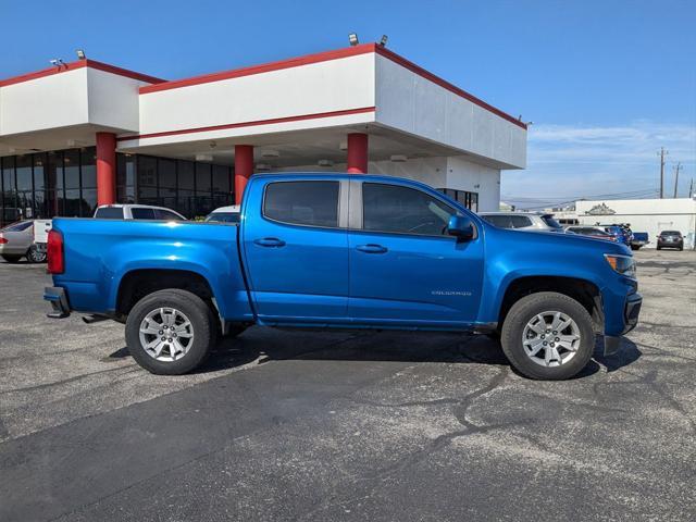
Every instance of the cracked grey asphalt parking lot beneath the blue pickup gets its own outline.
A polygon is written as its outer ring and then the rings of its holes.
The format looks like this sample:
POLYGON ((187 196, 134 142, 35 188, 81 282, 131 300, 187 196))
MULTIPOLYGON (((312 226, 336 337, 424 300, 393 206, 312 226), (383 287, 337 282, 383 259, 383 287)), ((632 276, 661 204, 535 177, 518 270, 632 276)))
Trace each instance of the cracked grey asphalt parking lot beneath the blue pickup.
POLYGON ((0 520, 695 520, 696 252, 636 257, 638 327, 558 383, 485 336, 260 327, 154 376, 0 262, 0 520))

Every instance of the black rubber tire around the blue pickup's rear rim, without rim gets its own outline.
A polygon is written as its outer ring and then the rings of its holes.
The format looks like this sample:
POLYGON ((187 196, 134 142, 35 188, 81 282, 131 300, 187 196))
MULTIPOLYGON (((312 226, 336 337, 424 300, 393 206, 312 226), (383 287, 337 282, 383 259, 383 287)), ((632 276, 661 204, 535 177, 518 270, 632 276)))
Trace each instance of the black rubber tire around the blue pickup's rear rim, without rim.
POLYGON ((195 294, 179 289, 154 291, 140 299, 126 320, 126 345, 138 364, 159 375, 182 375, 198 368, 210 355, 215 340, 214 325, 208 304, 195 294), (173 308, 191 323, 194 338, 188 351, 174 361, 160 361, 140 344, 140 324, 146 315, 159 308, 173 308))

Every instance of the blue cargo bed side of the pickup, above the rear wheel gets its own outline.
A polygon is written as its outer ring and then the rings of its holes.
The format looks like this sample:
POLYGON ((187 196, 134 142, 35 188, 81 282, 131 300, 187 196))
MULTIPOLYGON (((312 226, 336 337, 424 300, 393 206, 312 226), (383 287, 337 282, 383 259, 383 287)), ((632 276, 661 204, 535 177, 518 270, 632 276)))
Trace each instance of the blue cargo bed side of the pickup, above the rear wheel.
POLYGON ((252 318, 237 244, 238 227, 222 223, 55 219, 64 237, 71 308, 114 312, 119 286, 137 270, 190 271, 204 277, 223 318, 252 318))

